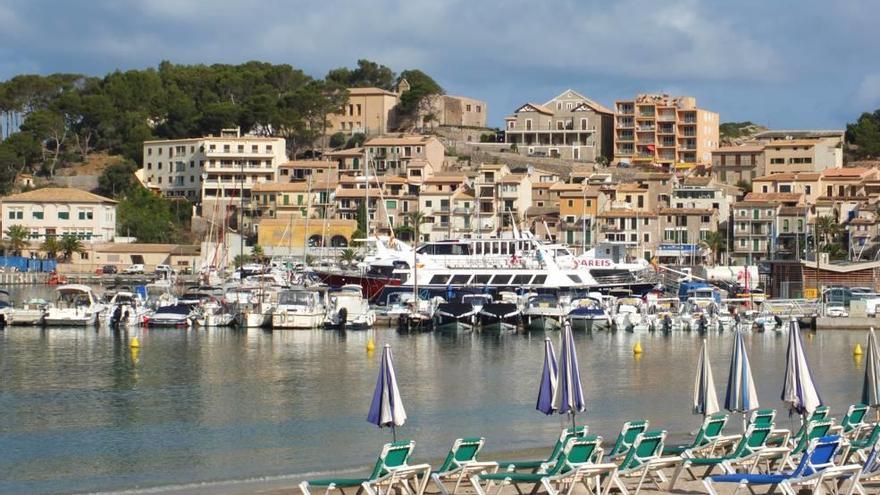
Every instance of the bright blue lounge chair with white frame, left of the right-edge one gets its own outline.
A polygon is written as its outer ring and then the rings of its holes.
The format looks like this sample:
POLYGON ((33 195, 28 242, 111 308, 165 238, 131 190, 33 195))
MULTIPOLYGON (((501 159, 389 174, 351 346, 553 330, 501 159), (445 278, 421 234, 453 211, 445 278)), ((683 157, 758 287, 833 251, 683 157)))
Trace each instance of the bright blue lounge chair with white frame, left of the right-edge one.
POLYGON ((778 486, 787 495, 796 495, 799 489, 812 488, 811 493, 823 493, 824 485, 833 482, 832 491, 837 492, 836 483, 841 479, 851 478, 851 487, 857 486, 855 476, 861 470, 861 466, 851 464, 836 466, 834 457, 841 447, 841 438, 837 435, 815 438, 809 446, 795 469, 788 473, 779 474, 748 474, 732 473, 718 476, 710 476, 703 480, 703 485, 710 495, 717 495, 713 483, 736 483, 734 495, 741 489, 747 488, 754 493, 755 485, 770 485, 767 493, 771 493, 778 486))

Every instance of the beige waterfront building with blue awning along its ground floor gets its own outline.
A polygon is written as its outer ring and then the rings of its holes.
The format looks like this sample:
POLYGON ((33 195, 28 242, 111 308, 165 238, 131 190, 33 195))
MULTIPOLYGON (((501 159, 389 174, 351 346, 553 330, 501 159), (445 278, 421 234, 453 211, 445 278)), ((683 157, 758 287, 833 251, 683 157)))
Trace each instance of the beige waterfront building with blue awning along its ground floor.
POLYGON ((660 246, 654 256, 660 263, 693 265, 712 263, 711 249, 703 241, 718 230, 720 215, 712 208, 660 208, 660 246))

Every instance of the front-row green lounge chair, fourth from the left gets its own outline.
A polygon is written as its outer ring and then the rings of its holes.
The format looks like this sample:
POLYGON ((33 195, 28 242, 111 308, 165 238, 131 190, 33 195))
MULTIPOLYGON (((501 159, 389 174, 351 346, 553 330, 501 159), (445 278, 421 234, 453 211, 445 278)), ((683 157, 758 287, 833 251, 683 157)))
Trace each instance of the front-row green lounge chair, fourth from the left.
MULTIPOLYGON (((666 440, 666 432, 662 430, 646 431, 639 434, 632 447, 627 450, 626 456, 620 461, 617 470, 608 480, 608 486, 616 486, 623 495, 627 495, 629 490, 624 483, 624 478, 639 478, 636 485, 634 495, 638 495, 645 481, 650 479, 658 490, 663 488, 658 483, 666 482, 666 476, 663 470, 671 467, 680 466, 682 459, 680 456, 661 457, 663 452, 663 442, 666 440)), ((675 480, 669 484, 667 491, 672 491, 675 487, 675 480)))

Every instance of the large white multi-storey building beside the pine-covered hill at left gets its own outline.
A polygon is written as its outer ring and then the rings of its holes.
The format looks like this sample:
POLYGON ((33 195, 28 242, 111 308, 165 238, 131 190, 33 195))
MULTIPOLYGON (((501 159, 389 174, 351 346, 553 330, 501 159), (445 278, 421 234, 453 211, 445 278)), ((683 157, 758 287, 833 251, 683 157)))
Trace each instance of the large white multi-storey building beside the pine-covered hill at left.
POLYGON ((284 138, 242 136, 223 129, 220 136, 144 141, 141 180, 168 197, 190 201, 238 203, 242 192, 272 182, 278 165, 287 162, 284 138))

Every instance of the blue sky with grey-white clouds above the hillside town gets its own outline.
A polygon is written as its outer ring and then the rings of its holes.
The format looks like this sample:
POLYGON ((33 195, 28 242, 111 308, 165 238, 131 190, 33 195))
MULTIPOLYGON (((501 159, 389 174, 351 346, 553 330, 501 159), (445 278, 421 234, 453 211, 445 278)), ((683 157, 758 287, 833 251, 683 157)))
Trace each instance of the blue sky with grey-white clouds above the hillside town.
POLYGON ((876 0, 0 0, 0 79, 175 63, 360 58, 486 100, 489 124, 565 89, 611 107, 692 95, 722 122, 842 129, 880 107, 876 0))

